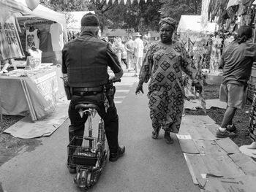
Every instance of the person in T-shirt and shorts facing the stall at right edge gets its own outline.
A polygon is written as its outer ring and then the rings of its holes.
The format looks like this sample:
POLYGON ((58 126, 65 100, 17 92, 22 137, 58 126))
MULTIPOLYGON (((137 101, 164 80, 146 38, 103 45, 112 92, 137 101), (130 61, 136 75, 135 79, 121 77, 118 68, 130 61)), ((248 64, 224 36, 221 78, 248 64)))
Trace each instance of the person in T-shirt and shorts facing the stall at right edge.
POLYGON ((236 136, 233 117, 236 110, 244 107, 246 102, 247 82, 253 61, 256 61, 256 45, 252 43, 252 28, 241 26, 238 38, 227 45, 219 61, 219 67, 223 68, 219 100, 227 103, 227 109, 217 130, 217 137, 236 136))

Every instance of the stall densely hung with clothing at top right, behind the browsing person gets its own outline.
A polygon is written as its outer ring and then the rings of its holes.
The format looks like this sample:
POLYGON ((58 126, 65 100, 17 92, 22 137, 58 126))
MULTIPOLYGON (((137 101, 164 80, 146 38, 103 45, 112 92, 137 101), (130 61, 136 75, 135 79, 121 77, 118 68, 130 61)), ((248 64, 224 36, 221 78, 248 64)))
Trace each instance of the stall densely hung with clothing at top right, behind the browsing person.
MULTIPOLYGON (((211 1, 203 0, 202 15, 205 19, 202 24, 206 22, 216 21, 219 25, 214 32, 212 39, 211 51, 211 66, 215 69, 219 67, 219 57, 222 55, 222 50, 236 38, 239 26, 251 26, 255 30, 256 20, 256 1, 211 1)), ((256 33, 256 30, 255 30, 256 33)), ((254 33, 253 40, 255 42, 256 35, 254 33)), ((247 99, 252 101, 252 96, 256 91, 255 81, 256 65, 252 67, 252 74, 249 79, 248 96, 247 99)))

